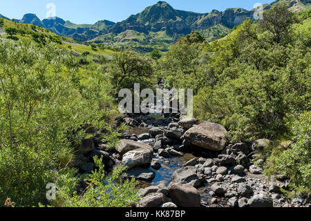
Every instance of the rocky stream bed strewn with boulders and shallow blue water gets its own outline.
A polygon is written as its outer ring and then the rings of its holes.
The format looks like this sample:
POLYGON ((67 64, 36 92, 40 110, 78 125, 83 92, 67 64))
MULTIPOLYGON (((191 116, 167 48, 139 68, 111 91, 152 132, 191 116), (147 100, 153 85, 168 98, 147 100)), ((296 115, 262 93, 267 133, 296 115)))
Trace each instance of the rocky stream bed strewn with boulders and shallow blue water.
MULTIPOLYGON (((227 130, 216 123, 199 123, 179 114, 164 118, 126 116, 118 119, 124 131, 116 151, 106 152, 100 139, 82 142, 78 156, 82 173, 94 165, 90 157, 104 156, 106 168, 126 165, 126 178, 140 180, 141 207, 300 207, 309 199, 285 198, 289 180, 268 179, 255 165, 257 150, 270 141, 229 143, 227 130)), ((258 157, 258 156, 257 156, 258 157)), ((263 161, 263 159, 256 159, 263 161)), ((82 185, 83 188, 83 185, 82 185)))

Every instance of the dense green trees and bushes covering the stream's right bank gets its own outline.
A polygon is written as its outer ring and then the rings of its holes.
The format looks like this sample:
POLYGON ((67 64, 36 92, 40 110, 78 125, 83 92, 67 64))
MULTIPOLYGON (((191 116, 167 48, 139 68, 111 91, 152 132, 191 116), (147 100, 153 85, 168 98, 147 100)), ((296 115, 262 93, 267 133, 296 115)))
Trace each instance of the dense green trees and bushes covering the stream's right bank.
POLYGON ((195 115, 225 125, 232 142, 295 141, 267 152, 267 171, 310 193, 310 13, 279 3, 262 21, 245 21, 206 43, 191 33, 158 60, 167 87, 192 88, 195 115), (309 111, 309 112, 308 112, 309 111), (305 113, 306 112, 306 113, 305 113), (303 114, 305 113, 305 114, 303 114), (270 165, 270 166, 269 166, 270 165))

